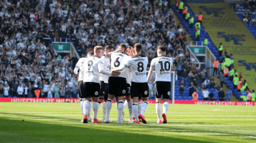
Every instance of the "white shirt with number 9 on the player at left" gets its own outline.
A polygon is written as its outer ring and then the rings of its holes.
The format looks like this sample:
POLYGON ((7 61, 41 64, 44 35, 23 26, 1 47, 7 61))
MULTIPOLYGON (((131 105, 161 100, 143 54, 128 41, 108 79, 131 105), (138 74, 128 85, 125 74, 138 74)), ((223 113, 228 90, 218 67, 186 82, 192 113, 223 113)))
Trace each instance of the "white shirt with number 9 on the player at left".
POLYGON ((97 55, 87 57, 87 59, 83 62, 83 83, 100 83, 100 72, 98 71, 99 62, 100 57, 97 55))

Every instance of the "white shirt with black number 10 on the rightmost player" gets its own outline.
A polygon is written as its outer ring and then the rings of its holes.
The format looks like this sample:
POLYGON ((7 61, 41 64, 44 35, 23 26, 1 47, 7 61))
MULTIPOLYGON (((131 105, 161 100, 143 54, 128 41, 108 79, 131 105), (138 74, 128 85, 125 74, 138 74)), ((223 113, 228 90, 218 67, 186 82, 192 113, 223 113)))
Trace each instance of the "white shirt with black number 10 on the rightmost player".
POLYGON ((171 81, 171 67, 173 67, 173 59, 166 56, 158 56, 151 61, 151 67, 155 68, 155 81, 171 81))

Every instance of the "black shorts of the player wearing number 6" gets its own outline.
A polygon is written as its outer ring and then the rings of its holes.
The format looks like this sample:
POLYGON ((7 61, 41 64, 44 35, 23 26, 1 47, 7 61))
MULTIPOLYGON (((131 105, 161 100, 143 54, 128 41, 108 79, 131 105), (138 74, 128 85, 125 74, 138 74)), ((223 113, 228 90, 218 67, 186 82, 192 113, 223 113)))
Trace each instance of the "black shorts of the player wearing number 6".
POLYGON ((108 94, 115 96, 125 96, 126 90, 126 78, 110 76, 108 79, 108 94))

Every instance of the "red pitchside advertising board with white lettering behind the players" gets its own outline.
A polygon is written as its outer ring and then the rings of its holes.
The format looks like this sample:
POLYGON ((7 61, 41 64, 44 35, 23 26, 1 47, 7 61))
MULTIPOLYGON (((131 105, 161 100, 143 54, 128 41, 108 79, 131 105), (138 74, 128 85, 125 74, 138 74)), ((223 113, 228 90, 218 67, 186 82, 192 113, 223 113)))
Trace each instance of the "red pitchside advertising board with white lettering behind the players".
MULTIPOLYGON (((80 99, 73 98, 0 98, 0 102, 16 103, 80 103, 80 99)), ((115 103, 115 101, 113 101, 115 103)), ((154 104, 156 100, 148 100, 148 103, 154 104)), ((163 103, 163 101, 162 101, 163 103)), ((169 101, 171 104, 171 101, 169 101)), ((207 104, 207 105, 227 105, 227 106, 256 106, 256 102, 242 101, 183 101, 175 100, 175 104, 207 104)))

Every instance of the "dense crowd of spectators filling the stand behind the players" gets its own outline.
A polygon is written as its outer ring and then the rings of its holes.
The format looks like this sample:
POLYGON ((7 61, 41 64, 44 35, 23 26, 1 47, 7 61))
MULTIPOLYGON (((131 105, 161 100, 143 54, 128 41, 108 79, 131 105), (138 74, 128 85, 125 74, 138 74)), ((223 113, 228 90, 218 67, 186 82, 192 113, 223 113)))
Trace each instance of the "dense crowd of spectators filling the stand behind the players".
MULTIPOLYGON (((158 45, 173 57, 174 70, 190 61, 184 53, 189 35, 166 0, 4 0, 0 21, 0 96, 4 97, 36 97, 34 91, 40 90, 42 98, 77 98, 72 67, 78 58, 55 52, 49 39, 57 35, 72 40, 81 57, 95 45, 117 48, 121 43, 141 43, 148 67, 158 45)), ((185 67, 191 66, 190 62, 185 67)))

